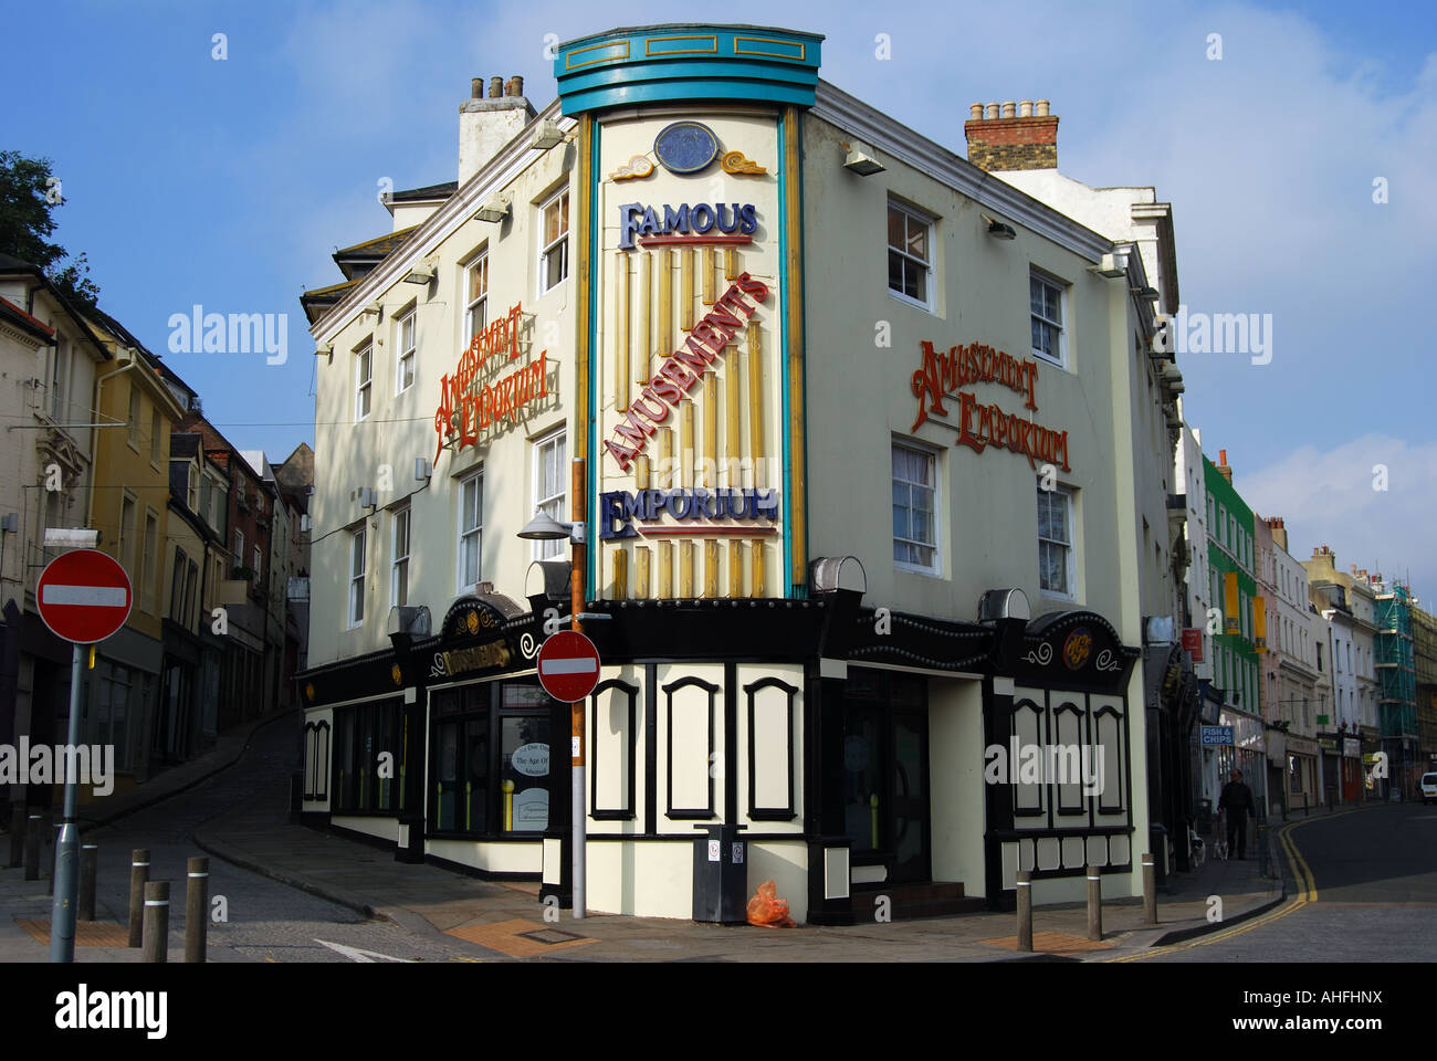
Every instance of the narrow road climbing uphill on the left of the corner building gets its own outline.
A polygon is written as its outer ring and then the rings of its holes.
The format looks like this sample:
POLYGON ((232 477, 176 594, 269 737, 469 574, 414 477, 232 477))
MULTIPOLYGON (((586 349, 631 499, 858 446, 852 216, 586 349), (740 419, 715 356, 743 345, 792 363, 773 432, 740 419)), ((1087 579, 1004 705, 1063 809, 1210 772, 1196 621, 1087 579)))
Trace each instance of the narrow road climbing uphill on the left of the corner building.
MULTIPOLYGON (((129 858, 134 848, 149 850, 149 878, 170 881, 171 946, 181 946, 184 932, 185 864, 203 855, 194 830, 239 807, 249 811, 287 812, 289 776, 299 763, 297 717, 282 719, 254 732, 250 748, 234 765, 205 782, 85 834, 99 844, 96 903, 125 923, 129 904, 129 858)), ((231 962, 411 962, 473 960, 474 947, 460 940, 450 946, 443 936, 420 936, 389 922, 362 914, 305 891, 210 858, 210 896, 223 896, 227 922, 211 917, 211 960, 231 962), (323 940, 323 943, 320 942, 323 940), (355 956, 341 947, 374 952, 355 956)), ((103 917, 103 911, 99 911, 103 917)))

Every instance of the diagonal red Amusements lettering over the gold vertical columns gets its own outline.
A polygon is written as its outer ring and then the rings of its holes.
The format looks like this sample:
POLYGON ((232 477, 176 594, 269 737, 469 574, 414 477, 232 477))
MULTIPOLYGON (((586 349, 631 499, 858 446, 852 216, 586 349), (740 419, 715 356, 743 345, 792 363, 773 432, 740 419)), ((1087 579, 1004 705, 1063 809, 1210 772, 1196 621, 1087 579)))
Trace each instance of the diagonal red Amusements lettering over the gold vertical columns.
POLYGON ((604 449, 618 463, 619 470, 629 470, 634 459, 648 446, 648 438, 657 426, 668 418, 668 407, 678 408, 688 400, 690 388, 704 377, 714 358, 753 316, 757 306, 744 302, 744 295, 754 302, 764 302, 769 298, 769 288, 749 273, 739 273, 739 279, 718 296, 713 309, 693 326, 684 345, 664 358, 664 367, 634 398, 624 417, 614 424, 616 437, 605 438, 604 449))

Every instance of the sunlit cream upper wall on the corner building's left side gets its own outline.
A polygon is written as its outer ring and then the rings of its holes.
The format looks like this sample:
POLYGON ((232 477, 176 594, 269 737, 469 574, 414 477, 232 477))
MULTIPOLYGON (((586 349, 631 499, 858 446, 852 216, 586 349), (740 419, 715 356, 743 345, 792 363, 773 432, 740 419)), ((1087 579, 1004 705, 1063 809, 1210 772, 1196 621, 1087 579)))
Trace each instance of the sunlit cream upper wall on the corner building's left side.
MULTIPOLYGON (((545 114, 556 115, 558 105, 545 114)), ((572 129, 573 122, 566 122, 572 129)), ((526 150, 514 141, 434 211, 315 328, 322 351, 315 400, 313 536, 310 552, 309 663, 319 666, 388 646, 387 618, 395 607, 394 523, 408 506, 414 554, 408 566, 408 598, 448 601, 479 582, 493 582, 506 595, 523 598, 525 574, 535 546, 514 535, 535 512, 535 443, 553 433, 572 436, 573 276, 540 290, 537 242, 540 206, 555 194, 573 194, 575 148, 526 150), (510 213, 503 221, 473 219, 480 203, 503 194, 510 213), (435 460, 434 430, 440 381, 451 375, 464 346, 467 270, 489 256, 489 321, 522 306, 519 364, 546 358, 549 397, 523 410, 520 423, 504 423, 481 446, 444 450, 435 460), (431 263, 430 285, 404 276, 431 263), (379 312, 369 312, 378 308, 379 312), (398 321, 415 319, 414 381, 398 391, 398 321), (372 351, 371 405, 358 414, 358 361, 372 351), (398 392, 397 392, 398 391, 398 392), (428 480, 415 479, 415 460, 433 461, 428 480), (477 578, 460 581, 460 490, 481 473, 483 515, 477 578), (358 490, 376 492, 376 506, 359 505, 358 490), (364 615, 351 623, 354 532, 364 530, 364 615)), ((572 224, 572 221, 570 221, 572 224)), ((500 374, 503 375, 503 372, 500 374)), ((568 473, 565 472, 565 484, 568 473)), ((568 493, 568 489, 565 489, 568 493)), ((568 509, 565 509, 568 512, 568 509)))

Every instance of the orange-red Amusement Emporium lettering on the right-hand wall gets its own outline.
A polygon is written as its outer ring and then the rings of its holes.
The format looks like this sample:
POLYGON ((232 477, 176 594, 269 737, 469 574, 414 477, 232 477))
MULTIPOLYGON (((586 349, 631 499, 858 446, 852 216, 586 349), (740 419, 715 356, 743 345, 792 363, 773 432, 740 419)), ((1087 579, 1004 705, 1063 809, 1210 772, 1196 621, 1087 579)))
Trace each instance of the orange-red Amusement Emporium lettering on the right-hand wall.
POLYGON ((1038 411, 1035 394, 1038 390, 1038 362, 1020 361, 983 344, 950 346, 947 354, 934 351, 931 342, 923 342, 923 368, 912 374, 912 392, 918 398, 918 417, 912 421, 917 431, 930 414, 948 415, 946 398, 958 403, 958 423, 937 420, 944 427, 958 433, 954 446, 967 446, 981 453, 989 446, 1007 449, 1027 457, 1029 467, 1056 464, 1063 472, 1068 466, 1068 431, 1043 427, 1032 420, 1007 413, 997 403, 979 404, 977 395, 960 387, 979 382, 997 382, 1023 395, 1023 407, 1038 411))

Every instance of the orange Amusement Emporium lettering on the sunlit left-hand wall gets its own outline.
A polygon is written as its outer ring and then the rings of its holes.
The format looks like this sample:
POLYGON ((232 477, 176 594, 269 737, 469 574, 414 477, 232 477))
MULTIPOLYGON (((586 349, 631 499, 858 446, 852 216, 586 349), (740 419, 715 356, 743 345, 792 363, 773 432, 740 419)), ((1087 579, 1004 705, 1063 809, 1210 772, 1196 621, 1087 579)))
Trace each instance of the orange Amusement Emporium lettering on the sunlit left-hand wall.
POLYGON ((522 321, 523 306, 516 303, 507 315, 474 334, 454 374, 440 381, 440 404, 434 411, 434 431, 440 437, 435 463, 456 436, 458 450, 477 446, 484 431, 499 430, 504 421, 517 424, 529 404, 549 395, 545 377, 547 351, 539 354, 537 361, 502 374, 504 365, 519 359, 522 321), (483 380, 490 374, 491 378, 483 380))

